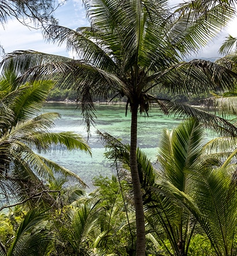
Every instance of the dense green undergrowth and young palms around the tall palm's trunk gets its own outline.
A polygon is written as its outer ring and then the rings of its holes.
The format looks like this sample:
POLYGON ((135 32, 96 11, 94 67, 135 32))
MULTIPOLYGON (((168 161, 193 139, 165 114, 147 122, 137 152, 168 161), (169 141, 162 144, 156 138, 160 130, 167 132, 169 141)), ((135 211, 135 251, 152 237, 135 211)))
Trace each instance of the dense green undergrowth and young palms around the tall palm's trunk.
MULTIPOLYGON (((224 137, 205 143, 204 131, 194 119, 164 130, 157 169, 137 149, 146 255, 236 255, 236 154, 224 137), (229 151, 214 150, 217 140, 229 151)), ((134 255, 130 146, 100 136, 118 177, 97 177, 96 190, 72 201, 61 197, 64 207, 50 214, 39 208, 2 214, 2 255, 134 255)))

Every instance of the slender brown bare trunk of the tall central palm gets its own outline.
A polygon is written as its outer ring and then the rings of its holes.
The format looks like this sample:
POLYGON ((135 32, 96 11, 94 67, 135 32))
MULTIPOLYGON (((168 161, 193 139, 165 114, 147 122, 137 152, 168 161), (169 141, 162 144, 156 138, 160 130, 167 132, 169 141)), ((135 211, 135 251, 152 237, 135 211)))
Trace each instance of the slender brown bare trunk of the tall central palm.
POLYGON ((131 134, 130 134, 130 170, 133 183, 134 204, 136 211, 136 256, 145 256, 145 217, 143 197, 137 169, 137 111, 138 104, 131 104, 131 134))

